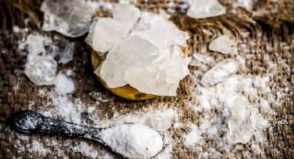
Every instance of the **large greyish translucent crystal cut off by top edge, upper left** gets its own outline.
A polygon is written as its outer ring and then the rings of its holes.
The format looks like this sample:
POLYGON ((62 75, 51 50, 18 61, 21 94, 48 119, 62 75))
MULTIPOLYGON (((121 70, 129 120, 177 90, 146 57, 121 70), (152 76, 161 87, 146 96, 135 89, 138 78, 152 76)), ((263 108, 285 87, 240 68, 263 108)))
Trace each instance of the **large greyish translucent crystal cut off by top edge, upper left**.
POLYGON ((80 0, 45 0, 41 10, 43 30, 55 30, 68 37, 80 37, 88 32, 93 13, 91 6, 80 0))

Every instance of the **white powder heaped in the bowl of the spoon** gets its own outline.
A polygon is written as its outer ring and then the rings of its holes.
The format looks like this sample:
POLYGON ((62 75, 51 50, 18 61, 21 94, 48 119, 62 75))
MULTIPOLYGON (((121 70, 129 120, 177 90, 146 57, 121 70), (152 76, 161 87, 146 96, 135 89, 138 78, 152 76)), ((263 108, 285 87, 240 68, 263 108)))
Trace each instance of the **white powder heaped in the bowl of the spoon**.
POLYGON ((143 124, 121 124, 104 129, 102 142, 126 158, 152 158, 163 149, 163 138, 143 124))

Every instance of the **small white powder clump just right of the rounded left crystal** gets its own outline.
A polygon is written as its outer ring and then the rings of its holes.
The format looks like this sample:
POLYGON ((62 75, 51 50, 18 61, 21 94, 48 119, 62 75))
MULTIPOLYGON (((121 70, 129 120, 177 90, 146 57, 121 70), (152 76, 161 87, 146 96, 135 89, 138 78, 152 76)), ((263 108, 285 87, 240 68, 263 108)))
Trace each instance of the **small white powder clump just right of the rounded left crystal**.
POLYGON ((55 91, 62 95, 73 93, 73 91, 75 91, 75 84, 73 84, 73 80, 66 77, 66 75, 59 73, 55 81, 55 91))

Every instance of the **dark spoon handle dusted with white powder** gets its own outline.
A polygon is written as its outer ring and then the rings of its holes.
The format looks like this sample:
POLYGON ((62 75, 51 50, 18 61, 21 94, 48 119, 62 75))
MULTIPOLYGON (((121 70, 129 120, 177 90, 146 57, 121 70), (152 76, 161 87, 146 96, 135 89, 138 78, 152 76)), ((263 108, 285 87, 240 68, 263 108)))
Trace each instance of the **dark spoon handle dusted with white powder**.
POLYGON ((91 139, 95 136, 95 140, 99 140, 98 134, 100 129, 93 127, 85 127, 71 122, 55 120, 45 117, 36 111, 17 111, 8 118, 10 127, 24 133, 47 133, 52 135, 68 135, 78 138, 91 139))

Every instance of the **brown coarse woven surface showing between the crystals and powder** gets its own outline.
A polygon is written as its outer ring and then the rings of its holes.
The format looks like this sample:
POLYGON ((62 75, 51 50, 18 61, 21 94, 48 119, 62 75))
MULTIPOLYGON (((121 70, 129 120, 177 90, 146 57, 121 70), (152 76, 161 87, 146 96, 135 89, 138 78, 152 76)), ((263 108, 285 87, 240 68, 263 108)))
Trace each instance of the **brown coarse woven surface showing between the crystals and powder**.
MULTIPOLYGON (((1 4, 5 3, 5 1, 0 2, 1 4)), ((249 52, 244 50, 244 47, 238 46, 239 55, 246 58, 246 69, 241 69, 238 73, 261 76, 266 73, 273 73, 273 77, 270 78, 270 88, 274 93, 285 90, 285 95, 281 99, 281 106, 276 106, 275 104, 270 105, 277 114, 270 116, 272 127, 266 132, 266 138, 269 143, 261 147, 264 153, 257 155, 249 144, 242 144, 242 149, 232 153, 236 153, 237 158, 248 158, 248 156, 250 158, 293 158, 294 1, 258 1, 255 3, 253 13, 242 8, 237 8, 233 14, 230 12, 232 10, 232 1, 223 0, 220 2, 227 7, 227 14, 209 19, 192 19, 186 17, 185 12, 187 10, 177 7, 183 5, 185 3, 184 1, 172 1, 176 4, 175 6, 170 6, 169 2, 168 0, 149 0, 148 2, 138 0, 135 5, 141 10, 147 10, 149 12, 158 12, 160 9, 168 10, 170 8, 176 10, 170 19, 174 21, 178 28, 190 33, 190 39, 188 40, 190 53, 200 52, 203 48, 207 48, 212 39, 224 33, 234 39, 241 39, 244 44, 250 44, 250 42, 254 41, 256 45, 248 45, 249 52), (208 34, 207 30, 211 33, 208 34), (249 32, 250 35, 242 37, 242 32, 249 32), (275 69, 269 69, 269 64, 276 64, 275 69)), ((35 7, 39 8, 40 4, 36 3, 35 7)), ((6 11, 8 12, 8 10, 6 11)), ((39 11, 37 13, 40 14, 37 17, 39 17, 39 21, 42 23, 42 14, 39 11)), ((111 13, 105 10, 97 10, 97 15, 109 16, 111 13)), ((17 19, 13 15, 11 18, 17 19)), ((19 20, 21 19, 19 17, 19 20)), ((13 23, 11 22, 11 24, 13 23)), ((42 33, 42 29, 39 29, 33 22, 16 24, 26 26, 29 32, 38 30, 42 33)), ((13 33, 12 26, 10 25, 0 35, 0 158, 63 158, 62 155, 58 155, 60 149, 69 158, 89 158, 86 154, 74 153, 67 149, 68 144, 74 144, 73 140, 78 139, 71 140, 71 138, 64 136, 32 134, 22 137, 28 138, 28 140, 20 140, 19 133, 8 127, 6 118, 11 112, 23 109, 41 109, 46 99, 39 97, 39 89, 52 89, 54 86, 35 86, 24 75, 24 64, 26 64, 27 53, 19 50, 19 44, 17 43, 22 38, 21 34, 13 33), (46 156, 39 156, 39 154, 35 154, 33 151, 26 150, 34 144, 33 139, 42 142, 44 147, 50 150, 46 156), (54 146, 54 144, 50 143, 50 140, 56 140, 60 146, 54 146), (17 145, 23 145, 24 147, 21 148, 17 145)), ((55 35, 62 37, 56 32, 46 32, 46 35, 50 37, 55 35)), ((79 97, 86 104, 95 104, 95 101, 89 96, 89 92, 105 90, 93 75, 90 60, 91 48, 84 42, 84 36, 68 40, 75 42, 73 61, 68 64, 59 64, 58 69, 73 69, 75 73, 73 76, 75 82, 73 97, 79 97)), ((207 54, 213 56, 217 62, 228 57, 236 58, 235 55, 207 54)), ((190 71, 196 69, 193 67, 190 68, 190 71)), ((114 111, 130 113, 132 111, 138 111, 143 107, 153 106, 156 108, 160 104, 166 104, 171 108, 183 110, 183 116, 180 118, 180 122, 196 123, 198 122, 199 114, 193 112, 187 106, 188 102, 197 98, 190 92, 190 86, 196 84, 194 81, 192 75, 183 79, 176 97, 156 97, 154 100, 140 102, 123 100, 116 97, 112 102, 102 104, 97 109, 100 109, 102 114, 108 114, 111 117, 114 111)), ((276 97, 279 96, 278 93, 275 95, 276 97)), ((266 97, 266 94, 264 96, 266 97)), ((84 116, 86 118, 86 114, 84 116)), ((194 153, 192 149, 185 148, 181 142, 183 133, 187 132, 187 130, 177 129, 171 132, 174 140, 172 158, 197 158, 197 153, 194 153)), ((95 142, 86 142, 92 144, 95 149, 104 150, 104 147, 95 144, 95 142)), ((208 147, 203 147, 203 149, 208 149, 208 147)), ((228 153, 223 151, 221 158, 229 158, 228 153)))

